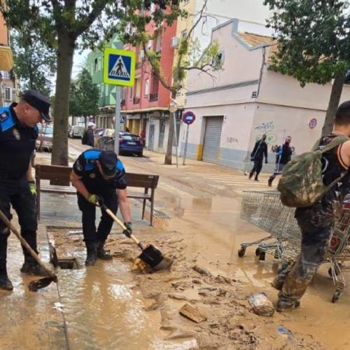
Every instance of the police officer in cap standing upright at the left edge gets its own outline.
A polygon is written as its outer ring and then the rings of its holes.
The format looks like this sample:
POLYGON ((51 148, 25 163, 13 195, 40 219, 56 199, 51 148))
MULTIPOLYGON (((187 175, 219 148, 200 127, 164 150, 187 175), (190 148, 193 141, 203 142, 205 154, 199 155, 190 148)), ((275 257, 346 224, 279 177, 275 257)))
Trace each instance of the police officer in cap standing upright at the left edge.
MULTIPOLYGON (((31 155, 38 137, 37 123, 50 122, 50 102, 40 92, 27 90, 21 101, 0 109, 0 209, 8 219, 10 205, 18 214, 21 235, 36 251, 36 187, 31 174, 31 155)), ((12 290, 6 269, 10 231, 0 221, 0 288, 12 290)), ((23 274, 43 274, 37 262, 23 249, 23 274)))

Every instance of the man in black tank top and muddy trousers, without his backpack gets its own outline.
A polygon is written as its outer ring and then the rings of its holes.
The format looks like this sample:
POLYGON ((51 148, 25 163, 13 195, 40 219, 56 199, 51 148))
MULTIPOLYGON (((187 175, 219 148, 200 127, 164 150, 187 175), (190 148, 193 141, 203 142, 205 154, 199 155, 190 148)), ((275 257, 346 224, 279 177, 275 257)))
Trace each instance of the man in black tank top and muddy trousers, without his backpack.
MULTIPOLYGON (((350 136, 350 101, 338 107, 332 134, 322 137, 317 148, 324 148, 337 136, 350 136)), ((314 205, 295 210, 295 218, 302 232, 301 251, 293 265, 283 269, 272 282, 272 286, 280 290, 278 311, 300 305, 300 298, 323 261, 335 218, 350 190, 349 166, 350 141, 323 153, 323 183, 329 186, 340 176, 344 177, 314 205)))

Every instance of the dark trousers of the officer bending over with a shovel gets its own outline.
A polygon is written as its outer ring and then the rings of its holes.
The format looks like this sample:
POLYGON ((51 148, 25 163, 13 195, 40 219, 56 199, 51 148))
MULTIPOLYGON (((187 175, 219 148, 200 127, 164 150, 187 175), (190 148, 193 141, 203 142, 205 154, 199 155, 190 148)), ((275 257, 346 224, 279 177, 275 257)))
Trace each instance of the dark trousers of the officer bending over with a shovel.
MULTIPOLYGON (((102 194, 97 194, 101 196, 106 204, 106 207, 111 209, 113 214, 118 211, 118 198, 116 190, 109 191, 102 194)), ((102 210, 101 220, 99 221, 99 227, 96 230, 95 220, 96 220, 96 206, 90 204, 85 200, 85 198, 78 193, 78 207, 82 213, 83 221, 83 235, 86 245, 94 244, 96 242, 104 243, 107 236, 111 232, 113 225, 113 218, 102 210)))

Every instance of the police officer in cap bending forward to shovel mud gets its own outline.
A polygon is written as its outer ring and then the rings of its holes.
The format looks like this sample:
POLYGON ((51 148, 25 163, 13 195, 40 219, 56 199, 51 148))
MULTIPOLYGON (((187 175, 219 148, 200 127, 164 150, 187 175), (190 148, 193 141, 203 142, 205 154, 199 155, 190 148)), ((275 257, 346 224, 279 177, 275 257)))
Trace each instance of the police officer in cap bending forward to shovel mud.
POLYGON ((111 232, 113 219, 102 211, 96 230, 96 206, 99 198, 116 214, 118 204, 125 221, 124 234, 132 234, 130 205, 127 199, 127 182, 123 163, 113 151, 89 149, 79 155, 73 164, 71 183, 77 190, 78 207, 82 212, 83 235, 87 251, 85 266, 94 265, 97 258, 111 260, 104 243, 111 232), (117 191, 118 190, 118 196, 117 191))

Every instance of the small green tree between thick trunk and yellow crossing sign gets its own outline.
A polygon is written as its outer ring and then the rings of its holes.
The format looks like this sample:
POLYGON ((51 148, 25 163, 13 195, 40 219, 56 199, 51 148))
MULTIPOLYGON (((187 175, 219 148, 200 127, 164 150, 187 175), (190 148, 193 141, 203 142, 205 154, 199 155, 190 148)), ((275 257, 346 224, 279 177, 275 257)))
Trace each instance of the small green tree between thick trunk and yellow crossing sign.
POLYGON ((78 79, 71 83, 69 114, 71 116, 94 116, 98 113, 99 88, 92 82, 87 69, 83 69, 78 79))

